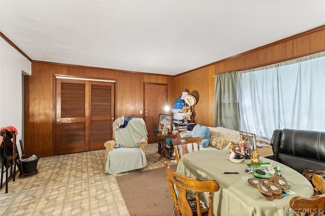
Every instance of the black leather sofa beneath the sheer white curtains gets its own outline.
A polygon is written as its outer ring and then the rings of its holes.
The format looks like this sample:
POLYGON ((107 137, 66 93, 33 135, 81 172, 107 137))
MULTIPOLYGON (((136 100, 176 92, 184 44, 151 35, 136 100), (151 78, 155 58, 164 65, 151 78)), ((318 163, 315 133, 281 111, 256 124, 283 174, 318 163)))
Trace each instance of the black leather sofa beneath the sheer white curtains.
POLYGON ((276 129, 271 145, 274 156, 268 158, 300 173, 304 169, 325 170, 325 132, 276 129))

